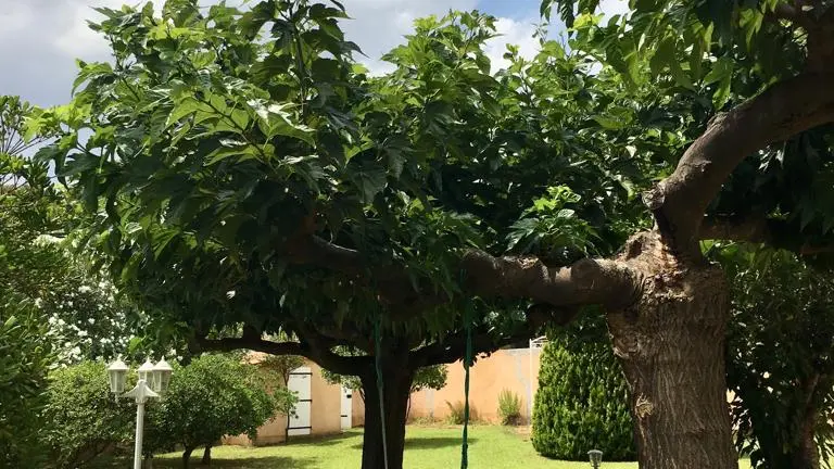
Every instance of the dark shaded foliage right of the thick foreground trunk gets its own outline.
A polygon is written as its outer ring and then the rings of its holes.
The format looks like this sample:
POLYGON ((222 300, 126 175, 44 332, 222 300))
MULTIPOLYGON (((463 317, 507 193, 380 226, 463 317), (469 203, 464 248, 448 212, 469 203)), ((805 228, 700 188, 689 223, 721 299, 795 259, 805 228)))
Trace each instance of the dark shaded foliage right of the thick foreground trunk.
POLYGON ((784 252, 722 249, 733 274, 728 385, 736 446, 753 467, 832 454, 834 278, 784 252))

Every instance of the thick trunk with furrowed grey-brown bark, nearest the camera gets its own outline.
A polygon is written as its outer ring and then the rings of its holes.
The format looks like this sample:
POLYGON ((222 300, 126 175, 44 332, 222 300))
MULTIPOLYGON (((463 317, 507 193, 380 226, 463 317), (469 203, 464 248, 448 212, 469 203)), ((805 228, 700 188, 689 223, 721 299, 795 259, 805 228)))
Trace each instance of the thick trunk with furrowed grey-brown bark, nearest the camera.
POLYGON ((729 288, 723 272, 677 259, 655 233, 630 241, 622 262, 642 274, 640 301, 608 314, 631 391, 641 469, 731 469, 724 376, 729 288))

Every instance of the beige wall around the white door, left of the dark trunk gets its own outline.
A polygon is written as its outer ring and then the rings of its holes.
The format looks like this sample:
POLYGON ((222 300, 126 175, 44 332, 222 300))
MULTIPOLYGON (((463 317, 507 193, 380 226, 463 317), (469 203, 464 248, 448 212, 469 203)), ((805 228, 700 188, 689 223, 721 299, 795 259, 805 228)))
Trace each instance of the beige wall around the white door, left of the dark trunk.
MULTIPOLYGON (((253 354, 250 358, 252 363, 256 363, 261 355, 253 354)), ((340 433, 341 428, 341 386, 333 385, 325 381, 321 377, 321 368, 305 360, 303 366, 308 366, 313 372, 311 380, 311 398, 313 403, 311 405, 311 435, 321 436, 328 434, 340 433)), ((357 393, 358 394, 358 393, 357 393)), ((356 395, 358 398, 358 395, 356 395)), ((362 401, 358 398, 358 401, 362 401)), ((355 404, 354 404, 355 406, 355 404)), ((354 414, 355 416, 355 414, 354 414)), ((253 442, 247 435, 226 436, 223 439, 223 444, 237 444, 237 445, 273 445, 282 443, 286 441, 285 434, 287 429, 287 416, 277 415, 274 419, 269 420, 257 429, 257 439, 253 442)), ((293 436, 293 439, 304 436, 293 436)))

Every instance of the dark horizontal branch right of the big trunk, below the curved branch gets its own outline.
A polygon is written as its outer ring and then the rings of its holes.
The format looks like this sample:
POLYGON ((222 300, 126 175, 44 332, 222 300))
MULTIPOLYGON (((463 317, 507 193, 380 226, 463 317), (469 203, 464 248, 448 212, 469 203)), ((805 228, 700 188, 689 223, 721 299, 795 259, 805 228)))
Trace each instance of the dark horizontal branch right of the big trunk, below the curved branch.
POLYGON ((766 244, 770 248, 792 251, 799 255, 834 252, 831 242, 811 242, 804 237, 796 224, 766 217, 707 217, 700 227, 702 240, 741 241, 766 244))

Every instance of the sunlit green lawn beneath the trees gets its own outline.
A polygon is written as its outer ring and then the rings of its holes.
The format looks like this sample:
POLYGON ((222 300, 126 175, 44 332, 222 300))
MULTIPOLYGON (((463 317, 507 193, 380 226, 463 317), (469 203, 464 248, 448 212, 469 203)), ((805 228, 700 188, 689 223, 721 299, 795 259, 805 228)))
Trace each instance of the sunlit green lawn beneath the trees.
MULTIPOLYGON (((587 469, 587 462, 545 459, 533 449, 528 436, 515 429, 476 426, 470 430, 469 467, 498 469, 587 469)), ((359 467, 362 429, 343 435, 269 447, 220 446, 212 449, 212 467, 251 469, 351 469, 359 467)), ((192 455, 197 464, 202 451, 192 455)), ((445 469, 460 466, 460 429, 409 426, 405 443, 407 469, 445 469)), ((178 454, 159 456, 156 468, 179 468, 178 454)), ((604 462, 604 469, 636 469, 634 462, 604 462)), ((748 465, 743 461, 742 469, 748 465)))

